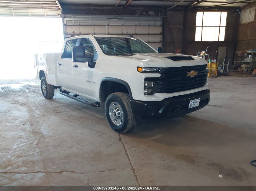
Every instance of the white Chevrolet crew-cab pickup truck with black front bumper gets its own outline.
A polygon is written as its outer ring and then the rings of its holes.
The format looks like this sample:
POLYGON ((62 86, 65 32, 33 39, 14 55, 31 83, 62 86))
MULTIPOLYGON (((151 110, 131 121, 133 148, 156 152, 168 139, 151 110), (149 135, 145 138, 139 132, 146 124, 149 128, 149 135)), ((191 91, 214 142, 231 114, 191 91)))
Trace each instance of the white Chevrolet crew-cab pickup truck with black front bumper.
POLYGON ((35 55, 35 66, 46 99, 59 89, 62 95, 104 108, 118 133, 136 122, 183 116, 210 101, 203 58, 158 53, 130 36, 71 37, 61 53, 35 55))

